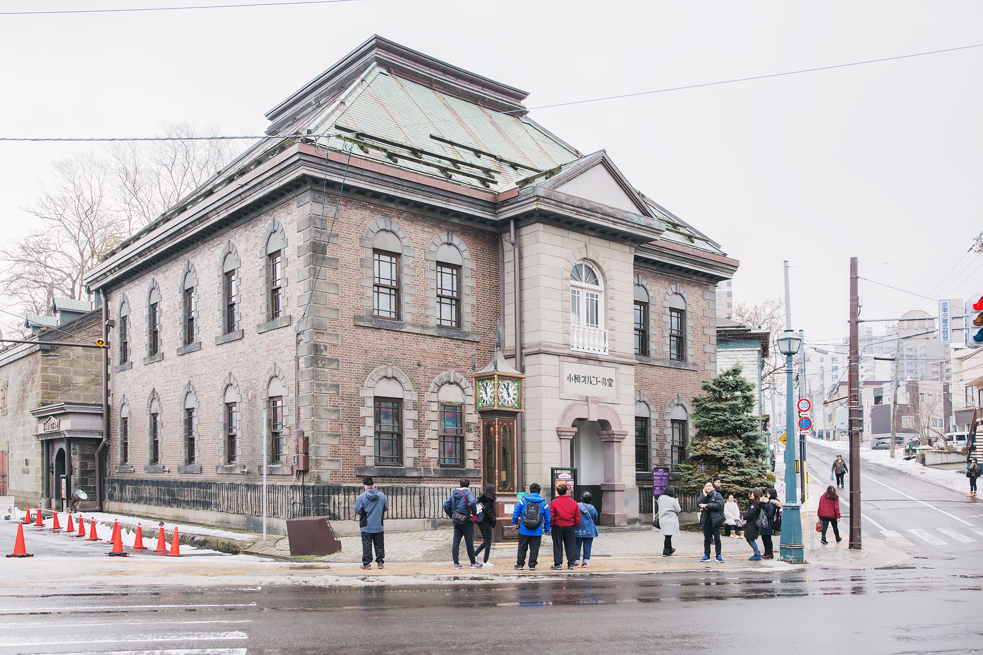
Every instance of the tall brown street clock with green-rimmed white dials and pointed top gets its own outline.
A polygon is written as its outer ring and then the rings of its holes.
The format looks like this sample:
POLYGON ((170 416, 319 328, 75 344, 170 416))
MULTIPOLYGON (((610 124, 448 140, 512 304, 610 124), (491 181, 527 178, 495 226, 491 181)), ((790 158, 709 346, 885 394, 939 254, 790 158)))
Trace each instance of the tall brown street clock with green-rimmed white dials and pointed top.
POLYGON ((500 519, 495 531, 509 538, 511 506, 517 501, 519 471, 522 470, 521 435, 515 431, 516 418, 522 411, 526 376, 516 371, 501 353, 501 337, 495 329, 492 361, 474 375, 475 409, 482 417, 482 480, 492 484, 497 496, 495 514, 500 519), (506 509, 508 510, 506 512, 506 509), (504 514, 508 513, 508 516, 504 514))

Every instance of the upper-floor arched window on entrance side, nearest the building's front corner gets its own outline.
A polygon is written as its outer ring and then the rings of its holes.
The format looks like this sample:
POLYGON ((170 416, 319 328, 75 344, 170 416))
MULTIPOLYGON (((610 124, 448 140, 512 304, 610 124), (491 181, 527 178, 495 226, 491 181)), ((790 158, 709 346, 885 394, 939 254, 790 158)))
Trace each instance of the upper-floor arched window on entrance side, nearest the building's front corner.
POLYGON ((359 281, 363 287, 365 316, 410 323, 415 314, 413 279, 417 273, 413 267, 417 253, 410 237, 391 218, 376 218, 359 239, 359 245, 365 249, 361 262, 365 275, 359 281), (384 261, 376 262, 378 258, 384 261))

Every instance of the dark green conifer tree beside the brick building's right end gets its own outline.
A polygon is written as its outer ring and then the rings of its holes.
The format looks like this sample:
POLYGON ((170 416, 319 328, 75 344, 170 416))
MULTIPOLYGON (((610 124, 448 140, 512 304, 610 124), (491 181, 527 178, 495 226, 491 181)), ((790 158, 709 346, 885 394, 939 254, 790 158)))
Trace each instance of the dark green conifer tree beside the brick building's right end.
POLYGON ((754 408, 754 387, 741 376, 740 364, 701 385, 705 395, 693 398, 696 437, 689 458, 676 464, 680 487, 698 492, 721 477, 724 499, 733 494, 747 506, 752 489, 768 489, 768 447, 761 441, 760 417, 754 408))

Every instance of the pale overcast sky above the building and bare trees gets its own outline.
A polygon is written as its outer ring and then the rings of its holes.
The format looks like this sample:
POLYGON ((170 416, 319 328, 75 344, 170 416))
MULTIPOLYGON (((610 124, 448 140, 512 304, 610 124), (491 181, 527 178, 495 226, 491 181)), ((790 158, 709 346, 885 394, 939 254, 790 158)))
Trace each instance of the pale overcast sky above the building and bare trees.
MULTIPOLYGON (((0 11, 226 0, 6 1, 0 11)), ((253 0, 228 0, 250 2, 253 0)), ((334 4, 0 17, 0 133, 147 136, 168 121, 260 134, 263 113, 373 33, 530 91, 529 107, 983 43, 983 3, 334 4)), ((782 293, 815 339, 863 315, 983 291, 983 47, 538 109, 584 152, 740 260, 735 299, 782 293), (960 258, 962 258, 960 260, 960 258), (890 264, 885 264, 890 263, 890 264), (952 273, 946 276, 947 272, 952 273)), ((23 234, 50 161, 86 145, 0 143, 0 240, 23 234)), ((961 338, 961 337, 960 337, 961 338)))

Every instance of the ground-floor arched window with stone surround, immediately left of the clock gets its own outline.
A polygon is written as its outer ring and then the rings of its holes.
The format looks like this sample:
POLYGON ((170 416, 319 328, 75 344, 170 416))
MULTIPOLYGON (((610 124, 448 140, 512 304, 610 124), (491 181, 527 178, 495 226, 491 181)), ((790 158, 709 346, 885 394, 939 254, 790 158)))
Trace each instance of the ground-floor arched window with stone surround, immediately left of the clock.
POLYGON ((468 377, 458 371, 445 371, 436 376, 431 382, 427 393, 424 394, 425 418, 427 420, 425 455, 438 467, 454 466, 468 469, 478 468, 479 451, 475 448, 475 426, 479 416, 475 413, 475 390, 468 377), (445 412, 442 406, 450 411, 445 412), (459 417, 451 409, 460 407, 459 417), (448 463, 444 456, 444 447, 449 445, 448 437, 454 437, 453 423, 460 425, 460 462, 448 463))

